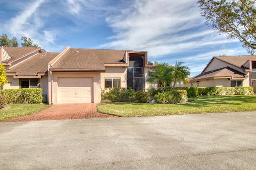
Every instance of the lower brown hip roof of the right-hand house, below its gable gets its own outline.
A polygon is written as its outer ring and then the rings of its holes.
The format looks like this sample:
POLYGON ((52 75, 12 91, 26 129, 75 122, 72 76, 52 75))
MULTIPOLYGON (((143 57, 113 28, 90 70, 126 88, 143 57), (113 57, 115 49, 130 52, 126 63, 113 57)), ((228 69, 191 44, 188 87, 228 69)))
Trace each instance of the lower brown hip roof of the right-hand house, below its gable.
POLYGON ((194 76, 190 78, 190 82, 196 82, 200 80, 207 80, 207 79, 216 79, 216 78, 238 78, 238 79, 245 79, 246 74, 243 74, 242 72, 239 72, 237 70, 234 70, 230 67, 224 67, 213 71, 204 72, 201 74, 198 74, 197 76, 194 76))

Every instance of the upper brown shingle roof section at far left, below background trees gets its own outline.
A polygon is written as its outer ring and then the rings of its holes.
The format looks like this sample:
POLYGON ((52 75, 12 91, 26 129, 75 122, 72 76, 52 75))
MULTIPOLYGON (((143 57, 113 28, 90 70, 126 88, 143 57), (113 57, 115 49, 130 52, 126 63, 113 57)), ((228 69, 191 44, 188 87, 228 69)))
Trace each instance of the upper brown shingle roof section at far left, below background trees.
POLYGON ((3 48, 11 57, 10 59, 5 60, 4 62, 10 62, 14 59, 22 57, 23 55, 31 53, 32 51, 38 51, 41 49, 37 47, 3 47, 3 48))

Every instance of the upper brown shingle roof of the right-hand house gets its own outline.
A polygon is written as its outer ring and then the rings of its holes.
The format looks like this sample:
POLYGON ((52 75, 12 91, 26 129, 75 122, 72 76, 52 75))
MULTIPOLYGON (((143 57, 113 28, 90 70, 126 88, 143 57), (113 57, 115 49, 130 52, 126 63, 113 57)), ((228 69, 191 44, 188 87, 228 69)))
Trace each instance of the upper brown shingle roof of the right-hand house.
POLYGON ((248 60, 256 60, 256 55, 218 56, 214 58, 242 67, 248 60))

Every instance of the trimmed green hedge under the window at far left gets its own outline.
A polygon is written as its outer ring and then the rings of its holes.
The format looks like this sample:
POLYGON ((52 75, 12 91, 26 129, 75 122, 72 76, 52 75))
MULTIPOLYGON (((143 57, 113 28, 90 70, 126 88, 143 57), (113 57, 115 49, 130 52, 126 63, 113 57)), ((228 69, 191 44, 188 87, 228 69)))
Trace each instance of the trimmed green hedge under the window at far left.
POLYGON ((42 88, 22 88, 22 89, 4 89, 0 90, 6 98, 6 102, 10 104, 32 104, 40 103, 43 100, 42 88))

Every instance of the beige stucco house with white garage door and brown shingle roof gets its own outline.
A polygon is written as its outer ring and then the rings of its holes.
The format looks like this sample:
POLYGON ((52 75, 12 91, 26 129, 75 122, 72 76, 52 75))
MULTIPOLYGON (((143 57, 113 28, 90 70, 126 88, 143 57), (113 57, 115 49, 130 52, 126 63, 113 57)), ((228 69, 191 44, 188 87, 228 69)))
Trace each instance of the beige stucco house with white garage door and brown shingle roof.
POLYGON ((40 87, 49 104, 100 103, 101 89, 156 87, 146 82, 153 65, 146 51, 0 47, 0 57, 8 79, 2 88, 40 87))

